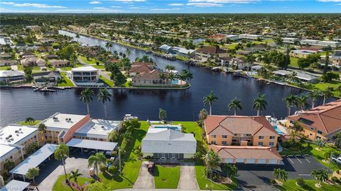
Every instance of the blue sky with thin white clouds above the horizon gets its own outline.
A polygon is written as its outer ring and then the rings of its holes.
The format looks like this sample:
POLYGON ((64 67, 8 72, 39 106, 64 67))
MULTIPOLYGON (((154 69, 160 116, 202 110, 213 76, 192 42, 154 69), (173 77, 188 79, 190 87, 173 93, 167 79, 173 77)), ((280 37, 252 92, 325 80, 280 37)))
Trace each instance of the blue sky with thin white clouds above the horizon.
POLYGON ((1 0, 0 13, 341 13, 341 0, 1 0))

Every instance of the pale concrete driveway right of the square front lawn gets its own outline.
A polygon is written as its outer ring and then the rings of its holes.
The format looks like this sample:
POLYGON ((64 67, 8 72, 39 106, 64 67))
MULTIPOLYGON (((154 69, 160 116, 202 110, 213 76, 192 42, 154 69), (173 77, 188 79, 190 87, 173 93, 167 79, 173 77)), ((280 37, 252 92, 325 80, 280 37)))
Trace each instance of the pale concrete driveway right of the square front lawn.
POLYGON ((195 177, 194 163, 182 163, 180 165, 180 180, 178 183, 178 189, 199 190, 197 179, 195 177))

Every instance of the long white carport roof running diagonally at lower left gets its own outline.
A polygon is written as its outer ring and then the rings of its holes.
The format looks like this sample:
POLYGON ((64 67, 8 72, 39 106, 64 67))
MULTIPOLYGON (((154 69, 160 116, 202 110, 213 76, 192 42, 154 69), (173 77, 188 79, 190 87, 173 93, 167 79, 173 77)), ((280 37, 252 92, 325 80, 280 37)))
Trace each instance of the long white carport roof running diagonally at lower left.
POLYGON ((45 144, 43 147, 38 149, 34 154, 28 156, 25 160, 23 160, 18 166, 13 168, 9 173, 11 173, 12 178, 14 174, 23 175, 23 180, 25 181, 25 175, 30 168, 36 168, 43 163, 43 161, 48 158, 50 160, 50 156, 55 152, 57 148, 56 144, 45 144))

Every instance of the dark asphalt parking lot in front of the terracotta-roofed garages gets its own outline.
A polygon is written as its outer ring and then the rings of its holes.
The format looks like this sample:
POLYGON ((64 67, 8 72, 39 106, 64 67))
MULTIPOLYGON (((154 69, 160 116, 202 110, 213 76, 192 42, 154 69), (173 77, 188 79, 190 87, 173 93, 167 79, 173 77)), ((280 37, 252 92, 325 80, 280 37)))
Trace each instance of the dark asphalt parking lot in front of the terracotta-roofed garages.
POLYGON ((283 165, 237 164, 237 180, 241 187, 252 190, 276 190, 269 185, 273 178, 274 168, 282 168, 288 172, 288 179, 302 177, 313 179, 310 172, 313 169, 325 168, 315 158, 308 155, 282 156, 283 165))

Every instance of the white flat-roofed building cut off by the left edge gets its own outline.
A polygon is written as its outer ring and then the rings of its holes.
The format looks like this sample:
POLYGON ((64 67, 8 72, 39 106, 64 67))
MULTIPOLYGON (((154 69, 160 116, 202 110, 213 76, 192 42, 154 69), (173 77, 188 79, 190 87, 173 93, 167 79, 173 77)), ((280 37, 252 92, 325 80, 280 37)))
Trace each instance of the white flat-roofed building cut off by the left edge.
POLYGON ((0 129, 0 173, 6 172, 4 163, 13 161, 18 164, 24 159, 29 144, 38 142, 38 129, 21 125, 8 125, 0 129))

